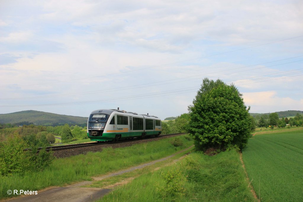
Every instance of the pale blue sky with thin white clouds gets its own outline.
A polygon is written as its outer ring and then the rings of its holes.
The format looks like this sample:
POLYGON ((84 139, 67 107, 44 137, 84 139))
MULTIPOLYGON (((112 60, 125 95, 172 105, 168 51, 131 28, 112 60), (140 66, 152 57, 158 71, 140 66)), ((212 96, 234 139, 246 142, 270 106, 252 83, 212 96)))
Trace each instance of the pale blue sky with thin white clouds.
POLYGON ((188 112, 203 78, 303 110, 303 2, 0 0, 0 114, 188 112))

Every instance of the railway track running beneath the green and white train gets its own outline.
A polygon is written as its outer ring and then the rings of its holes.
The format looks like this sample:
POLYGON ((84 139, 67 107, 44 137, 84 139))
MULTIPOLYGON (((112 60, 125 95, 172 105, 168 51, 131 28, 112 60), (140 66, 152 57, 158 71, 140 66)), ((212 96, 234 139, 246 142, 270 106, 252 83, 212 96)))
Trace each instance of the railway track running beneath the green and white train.
MULTIPOLYGON (((160 135, 158 137, 181 135, 181 134, 186 134, 186 133, 172 133, 172 134, 160 135)), ((155 136, 144 137, 142 139, 151 139, 151 138, 155 138, 155 136)), ((132 141, 136 141, 136 140, 138 140, 138 138, 129 138, 129 139, 125 139, 125 140, 119 140, 117 142, 107 141, 107 142, 90 142, 90 143, 80 143, 80 144, 68 144, 68 145, 61 145, 61 146, 48 146, 48 147, 45 148, 45 150, 46 151, 49 151, 49 150, 52 150, 52 151, 68 150, 68 149, 72 149, 72 148, 94 146, 94 145, 101 145, 101 144, 104 145, 104 144, 124 143, 124 142, 132 142, 132 141)), ((41 150, 41 149, 42 149, 42 147, 39 147, 38 151, 41 150)), ((27 151, 27 150, 31 150, 31 149, 30 148, 24 149, 24 151, 27 151)))

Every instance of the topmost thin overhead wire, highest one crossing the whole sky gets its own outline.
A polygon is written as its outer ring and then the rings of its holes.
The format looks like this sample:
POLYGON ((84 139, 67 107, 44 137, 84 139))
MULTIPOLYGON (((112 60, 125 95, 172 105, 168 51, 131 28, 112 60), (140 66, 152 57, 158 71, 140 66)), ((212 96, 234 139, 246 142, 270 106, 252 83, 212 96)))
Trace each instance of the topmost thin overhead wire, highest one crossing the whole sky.
POLYGON ((181 63, 181 62, 188 62, 188 61, 192 61, 192 60, 208 58, 208 57, 211 57, 211 56, 218 56, 218 55, 226 54, 226 53, 230 53, 230 52, 236 52, 236 51, 240 51, 240 50, 255 48, 255 47, 258 47, 258 46, 263 46, 263 45, 268 45, 268 44, 277 43, 277 42, 281 42, 281 41, 286 41, 286 40, 290 40, 290 39, 295 39, 295 38, 299 38, 299 37, 302 37, 302 36, 303 35, 292 37, 292 38, 288 38, 288 39, 282 39, 282 40, 278 40, 278 41, 274 41, 274 42, 264 43, 264 44, 260 44, 260 45, 254 45, 254 46, 250 46, 250 47, 247 47, 247 48, 242 48, 242 49, 237 49, 237 50, 232 50, 232 51, 227 51, 227 52, 221 52, 221 53, 217 53, 217 54, 213 54, 213 55, 208 55, 208 56, 203 56, 203 57, 199 57, 199 58, 188 59, 188 60, 183 60, 183 61, 178 61, 178 62, 171 62, 171 63, 167 63, 167 64, 163 64, 163 65, 151 66, 151 67, 146 67, 146 68, 141 68, 141 69, 134 69, 134 70, 129 70, 129 71, 125 71, 125 72, 117 72, 117 73, 105 74, 105 75, 100 75, 100 76, 92 76, 92 77, 79 78, 79 79, 70 79, 70 80, 64 80, 64 81, 54 81, 54 82, 36 83, 36 84, 28 84, 28 85, 17 85, 17 86, 0 86, 0 87, 36 86, 36 85, 45 85, 45 84, 53 84, 53 83, 61 83, 61 82, 78 81, 78 80, 84 80, 84 79, 98 78, 98 77, 102 77, 102 76, 110 76, 110 75, 123 74, 123 73, 127 73, 127 72, 140 71, 140 70, 144 70, 144 69, 151 69, 151 68, 156 68, 156 67, 161 67, 161 66, 178 64, 178 63, 181 63))

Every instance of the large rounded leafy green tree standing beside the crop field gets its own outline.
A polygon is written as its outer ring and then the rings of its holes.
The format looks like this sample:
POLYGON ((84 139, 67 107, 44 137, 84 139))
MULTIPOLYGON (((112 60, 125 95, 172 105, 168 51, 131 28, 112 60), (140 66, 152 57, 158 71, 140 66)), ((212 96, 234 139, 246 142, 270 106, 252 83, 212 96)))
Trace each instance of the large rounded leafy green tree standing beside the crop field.
POLYGON ((203 79, 193 105, 188 106, 188 132, 200 150, 245 147, 251 133, 251 119, 242 95, 223 81, 203 79))

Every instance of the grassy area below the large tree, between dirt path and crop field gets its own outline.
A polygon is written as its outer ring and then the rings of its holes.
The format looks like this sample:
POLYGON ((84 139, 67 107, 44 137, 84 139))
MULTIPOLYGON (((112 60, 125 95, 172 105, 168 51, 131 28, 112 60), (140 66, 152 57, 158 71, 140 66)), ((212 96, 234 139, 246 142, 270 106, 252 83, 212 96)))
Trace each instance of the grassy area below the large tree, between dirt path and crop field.
MULTIPOLYGON (((129 177, 129 176, 126 176, 129 177)), ((121 180, 121 179, 120 179, 121 180)), ((91 186, 103 187, 95 183, 91 186)), ((193 152, 151 170, 98 201, 255 201, 235 150, 209 157, 193 152)))

